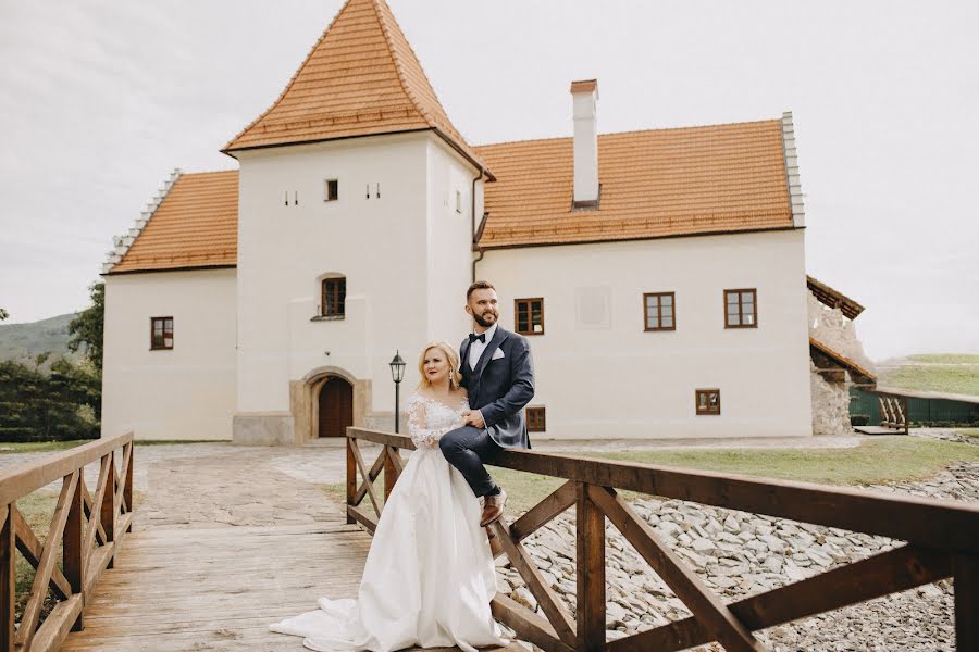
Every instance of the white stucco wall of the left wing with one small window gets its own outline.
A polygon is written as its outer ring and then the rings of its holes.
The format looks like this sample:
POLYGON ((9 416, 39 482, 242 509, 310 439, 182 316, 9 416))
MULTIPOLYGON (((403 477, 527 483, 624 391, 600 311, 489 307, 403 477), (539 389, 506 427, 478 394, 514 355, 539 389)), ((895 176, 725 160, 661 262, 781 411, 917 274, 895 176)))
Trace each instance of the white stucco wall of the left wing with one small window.
POLYGON ((231 439, 235 271, 106 277, 102 436, 231 439), (150 318, 173 316, 172 350, 150 350, 150 318))

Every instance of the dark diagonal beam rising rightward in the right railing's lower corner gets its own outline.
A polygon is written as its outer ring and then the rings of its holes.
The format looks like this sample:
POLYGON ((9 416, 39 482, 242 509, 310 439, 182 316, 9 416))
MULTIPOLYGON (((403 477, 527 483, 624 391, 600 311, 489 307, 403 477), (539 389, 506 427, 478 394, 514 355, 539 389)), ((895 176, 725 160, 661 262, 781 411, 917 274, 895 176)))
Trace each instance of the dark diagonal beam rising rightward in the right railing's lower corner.
MULTIPOLYGON (((903 546, 728 605, 753 631, 938 581, 952 575, 949 555, 903 546)), ((704 645, 715 634, 697 618, 676 620, 611 641, 609 652, 674 652, 704 645)))

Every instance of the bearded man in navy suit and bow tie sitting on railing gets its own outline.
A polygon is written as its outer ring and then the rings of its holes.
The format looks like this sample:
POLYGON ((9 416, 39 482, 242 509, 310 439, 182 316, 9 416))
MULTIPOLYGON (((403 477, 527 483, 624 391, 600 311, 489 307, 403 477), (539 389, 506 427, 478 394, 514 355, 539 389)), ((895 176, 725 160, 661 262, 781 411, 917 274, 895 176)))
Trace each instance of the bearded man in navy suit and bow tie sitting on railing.
POLYGON ((469 286, 466 312, 474 334, 462 340, 462 387, 469 391, 466 425, 438 442, 445 459, 459 469, 473 493, 484 497, 480 527, 503 515, 507 493, 493 481, 483 461, 501 449, 530 448, 523 406, 534 397, 534 367, 523 336, 497 324, 496 289, 485 280, 469 286))

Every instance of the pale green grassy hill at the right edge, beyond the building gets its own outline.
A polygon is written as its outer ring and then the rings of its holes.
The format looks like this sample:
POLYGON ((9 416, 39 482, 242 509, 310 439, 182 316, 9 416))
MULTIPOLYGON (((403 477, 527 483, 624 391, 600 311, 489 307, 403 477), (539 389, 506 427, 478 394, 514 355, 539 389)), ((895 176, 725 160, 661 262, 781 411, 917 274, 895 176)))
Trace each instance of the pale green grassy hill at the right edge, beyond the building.
POLYGON ((877 363, 878 385, 979 396, 979 354, 919 353, 877 363))

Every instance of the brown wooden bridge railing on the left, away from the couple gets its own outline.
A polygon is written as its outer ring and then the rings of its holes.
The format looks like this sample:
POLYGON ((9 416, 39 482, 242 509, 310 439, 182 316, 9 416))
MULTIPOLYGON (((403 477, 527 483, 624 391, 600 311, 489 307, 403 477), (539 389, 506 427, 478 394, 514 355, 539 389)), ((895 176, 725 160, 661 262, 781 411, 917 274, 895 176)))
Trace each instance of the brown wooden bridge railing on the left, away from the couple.
POLYGON ((0 475, 0 652, 58 650, 69 631, 82 629, 83 606, 102 570, 112 567, 123 535, 132 529, 133 434, 47 455, 0 475), (84 473, 96 461, 99 479, 92 494, 84 473), (41 542, 16 501, 59 479, 61 493, 41 542), (34 566, 35 576, 15 624, 17 551, 34 566), (58 602, 38 627, 49 589, 58 602))

